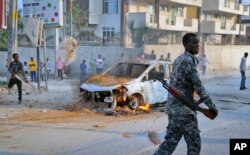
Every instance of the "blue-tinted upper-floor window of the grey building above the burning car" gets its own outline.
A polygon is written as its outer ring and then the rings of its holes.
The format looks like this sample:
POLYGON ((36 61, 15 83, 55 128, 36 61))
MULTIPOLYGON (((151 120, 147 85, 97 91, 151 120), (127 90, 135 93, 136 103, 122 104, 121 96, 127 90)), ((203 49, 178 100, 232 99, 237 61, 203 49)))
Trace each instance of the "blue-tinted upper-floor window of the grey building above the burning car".
POLYGON ((118 13, 118 0, 103 0, 103 13, 118 13))

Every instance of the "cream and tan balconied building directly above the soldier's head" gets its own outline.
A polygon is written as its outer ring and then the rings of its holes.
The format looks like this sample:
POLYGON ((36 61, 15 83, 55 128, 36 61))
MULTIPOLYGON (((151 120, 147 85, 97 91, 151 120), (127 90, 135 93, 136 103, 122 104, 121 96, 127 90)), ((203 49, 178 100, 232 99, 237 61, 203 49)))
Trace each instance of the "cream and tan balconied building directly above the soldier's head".
POLYGON ((180 43, 184 32, 198 32, 201 0, 131 0, 127 21, 134 28, 148 27, 148 43, 180 43))

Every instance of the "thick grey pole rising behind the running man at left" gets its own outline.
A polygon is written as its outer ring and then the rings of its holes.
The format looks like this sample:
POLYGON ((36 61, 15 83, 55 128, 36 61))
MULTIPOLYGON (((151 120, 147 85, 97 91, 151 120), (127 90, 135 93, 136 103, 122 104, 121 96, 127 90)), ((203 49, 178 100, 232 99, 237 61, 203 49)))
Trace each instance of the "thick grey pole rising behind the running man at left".
POLYGON ((17 53, 17 18, 17 0, 10 0, 8 16, 8 65, 12 60, 12 54, 17 53))

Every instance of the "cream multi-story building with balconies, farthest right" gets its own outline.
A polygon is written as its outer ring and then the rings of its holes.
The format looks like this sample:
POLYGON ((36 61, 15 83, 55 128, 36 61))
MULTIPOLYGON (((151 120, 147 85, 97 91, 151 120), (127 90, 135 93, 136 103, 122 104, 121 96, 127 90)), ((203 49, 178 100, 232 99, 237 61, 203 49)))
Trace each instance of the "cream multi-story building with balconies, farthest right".
POLYGON ((246 34, 241 16, 249 16, 249 6, 241 0, 203 0, 201 32, 207 42, 218 44, 236 43, 246 34))

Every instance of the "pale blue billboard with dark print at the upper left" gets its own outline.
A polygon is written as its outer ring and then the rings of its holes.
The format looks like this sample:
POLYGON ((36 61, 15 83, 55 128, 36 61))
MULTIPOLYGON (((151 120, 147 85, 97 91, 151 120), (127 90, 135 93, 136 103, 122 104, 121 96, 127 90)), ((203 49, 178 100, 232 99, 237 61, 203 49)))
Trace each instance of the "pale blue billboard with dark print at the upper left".
POLYGON ((24 18, 42 18, 45 27, 63 26, 63 0, 23 0, 24 18))

